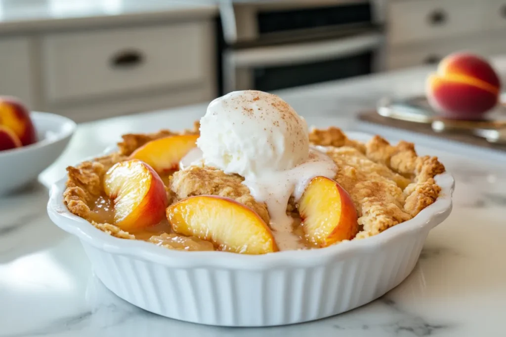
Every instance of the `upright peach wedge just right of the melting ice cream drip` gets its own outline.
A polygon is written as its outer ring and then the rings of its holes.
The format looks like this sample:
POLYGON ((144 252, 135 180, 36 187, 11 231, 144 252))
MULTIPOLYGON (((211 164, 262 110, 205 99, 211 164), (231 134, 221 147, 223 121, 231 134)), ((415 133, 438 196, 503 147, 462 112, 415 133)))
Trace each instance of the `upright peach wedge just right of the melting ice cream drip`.
POLYGON ((348 192, 332 179, 311 179, 299 202, 306 238, 319 247, 352 239, 358 232, 357 211, 348 192))

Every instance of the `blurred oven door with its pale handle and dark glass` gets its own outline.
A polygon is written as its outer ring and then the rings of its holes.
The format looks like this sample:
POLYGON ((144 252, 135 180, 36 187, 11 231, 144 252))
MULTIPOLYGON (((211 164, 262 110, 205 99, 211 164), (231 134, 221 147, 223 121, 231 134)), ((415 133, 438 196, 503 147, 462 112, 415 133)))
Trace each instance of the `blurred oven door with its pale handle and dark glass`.
POLYGON ((271 91, 381 71, 384 51, 377 27, 237 43, 222 55, 223 92, 271 91))

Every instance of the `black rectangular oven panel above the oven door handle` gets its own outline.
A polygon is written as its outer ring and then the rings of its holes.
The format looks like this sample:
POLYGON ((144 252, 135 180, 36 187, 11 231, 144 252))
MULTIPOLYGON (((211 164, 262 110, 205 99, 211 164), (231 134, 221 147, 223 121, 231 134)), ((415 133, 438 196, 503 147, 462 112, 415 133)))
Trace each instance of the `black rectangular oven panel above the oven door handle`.
POLYGON ((260 34, 371 22, 371 5, 362 4, 268 11, 257 14, 260 34))

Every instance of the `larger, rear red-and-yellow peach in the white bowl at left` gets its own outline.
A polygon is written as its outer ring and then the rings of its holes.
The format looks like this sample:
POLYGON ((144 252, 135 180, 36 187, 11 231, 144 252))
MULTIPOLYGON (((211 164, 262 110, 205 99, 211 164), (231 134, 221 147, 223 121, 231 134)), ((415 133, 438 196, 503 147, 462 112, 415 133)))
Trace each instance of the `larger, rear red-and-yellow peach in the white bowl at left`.
POLYGON ((28 109, 13 97, 0 97, 0 125, 11 129, 23 146, 37 140, 28 109))

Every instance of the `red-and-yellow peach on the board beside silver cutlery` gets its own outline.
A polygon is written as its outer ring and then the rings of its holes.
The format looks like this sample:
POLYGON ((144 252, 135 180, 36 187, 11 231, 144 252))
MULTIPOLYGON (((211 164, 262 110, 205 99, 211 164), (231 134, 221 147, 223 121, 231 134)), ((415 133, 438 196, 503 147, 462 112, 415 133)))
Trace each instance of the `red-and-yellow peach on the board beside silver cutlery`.
POLYGON ((479 56, 457 53, 441 61, 429 75, 426 93, 432 108, 453 119, 481 119, 499 101, 501 83, 479 56))

